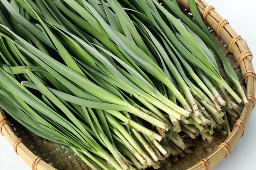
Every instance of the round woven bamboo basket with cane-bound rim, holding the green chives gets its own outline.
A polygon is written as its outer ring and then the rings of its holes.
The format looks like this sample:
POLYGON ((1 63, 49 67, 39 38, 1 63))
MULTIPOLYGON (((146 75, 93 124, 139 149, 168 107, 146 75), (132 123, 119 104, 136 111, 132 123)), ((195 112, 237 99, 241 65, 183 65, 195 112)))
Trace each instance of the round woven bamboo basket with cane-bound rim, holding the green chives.
MULTIPOLYGON (((188 1, 177 0, 177 2, 183 9, 184 14, 192 19, 191 13, 189 13, 188 1)), ((213 169, 230 155, 233 147, 245 133, 250 114, 256 104, 254 97, 256 74, 251 62, 253 55, 246 41, 243 41, 241 36, 236 34, 236 31, 233 30, 227 20, 224 20, 215 11, 214 7, 209 6, 204 0, 195 0, 195 2, 213 37, 240 78, 249 104, 246 106, 240 105, 239 112, 241 116, 239 120, 233 120, 234 126, 230 136, 217 136, 210 144, 202 139, 193 140, 195 146, 192 147, 192 153, 172 164, 171 170, 213 169)), ((224 78, 227 79, 220 63, 219 68, 224 78)), ((38 136, 33 136, 15 127, 5 117, 2 109, 0 109, 0 132, 14 147, 14 151, 32 167, 32 170, 88 169, 77 155, 61 147, 61 145, 42 141, 38 136)))

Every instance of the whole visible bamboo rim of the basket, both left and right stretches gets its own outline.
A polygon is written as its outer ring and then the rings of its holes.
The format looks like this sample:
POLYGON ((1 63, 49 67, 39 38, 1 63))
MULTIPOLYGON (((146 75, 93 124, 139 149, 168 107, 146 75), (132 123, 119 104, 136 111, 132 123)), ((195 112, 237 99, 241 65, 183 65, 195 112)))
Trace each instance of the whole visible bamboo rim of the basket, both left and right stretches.
MULTIPOLYGON (((189 9, 188 0, 177 0, 177 3, 180 6, 183 6, 184 8, 189 9)), ((225 20, 215 11, 214 8, 209 8, 209 5, 204 0, 195 0, 195 3, 201 15, 203 15, 204 11, 207 10, 206 11, 207 16, 205 16, 206 14, 204 14, 204 18, 207 25, 210 26, 214 31, 217 31, 218 34, 220 34, 220 37, 226 43, 226 45, 230 45, 230 43, 234 41, 233 38, 238 36, 238 34, 236 34, 236 31, 234 31, 233 28, 229 24, 227 24, 228 22, 225 22, 225 20)), ((255 74, 250 74, 250 71, 254 73, 254 69, 253 69, 253 64, 251 62, 251 59, 248 59, 248 57, 252 57, 252 55, 249 54, 245 58, 241 59, 241 55, 246 51, 250 51, 250 49, 246 41, 244 42, 242 39, 236 40, 236 42, 235 43, 232 42, 232 44, 233 44, 232 54, 237 60, 238 59, 241 60, 240 69, 242 74, 244 76, 246 75, 246 77, 244 78, 246 82, 246 87, 247 87, 246 94, 247 96, 254 98, 255 89, 256 89, 255 87, 256 80, 253 77, 253 75, 255 74)), ((255 103, 254 103, 254 100, 251 98, 249 100, 249 104, 244 106, 241 116, 239 118, 242 122, 244 122, 244 125, 247 125, 250 118, 250 114, 254 108, 255 103)), ((3 119, 4 116, 5 116, 4 112, 2 108, 0 108, 0 119, 3 119)), ((15 145, 15 151, 17 151, 17 154, 20 155, 20 157, 30 167, 34 166, 36 167, 35 169, 37 170, 56 170, 54 167, 50 166, 49 164, 44 162, 42 159, 38 160, 38 156, 35 156, 35 154, 32 153, 22 142, 15 144, 19 138, 15 134, 10 124, 3 125, 1 130, 3 135, 9 141, 9 143, 12 146, 15 145), (37 162, 37 164, 35 164, 35 162, 37 162)), ((213 169, 224 158, 226 158, 227 155, 231 153, 231 149, 235 147, 235 145, 237 144, 241 136, 244 134, 244 130, 245 130, 244 126, 238 125, 233 127, 233 130, 230 136, 228 136, 227 139, 224 141, 225 144, 222 144, 227 147, 224 147, 224 146, 218 147, 218 149, 216 149, 206 159, 199 161, 198 163, 194 164, 192 167, 189 167, 187 170, 213 169)), ((34 169, 34 167, 32 168, 34 169)))

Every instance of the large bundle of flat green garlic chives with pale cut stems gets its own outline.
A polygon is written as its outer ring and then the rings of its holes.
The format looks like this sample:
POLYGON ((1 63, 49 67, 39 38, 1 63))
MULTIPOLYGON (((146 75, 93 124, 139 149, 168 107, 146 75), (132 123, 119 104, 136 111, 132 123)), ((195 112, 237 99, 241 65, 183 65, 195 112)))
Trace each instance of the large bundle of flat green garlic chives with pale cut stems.
POLYGON ((0 106, 92 169, 169 166, 230 133, 226 90, 248 103, 193 0, 200 27, 175 0, 0 1, 0 106))

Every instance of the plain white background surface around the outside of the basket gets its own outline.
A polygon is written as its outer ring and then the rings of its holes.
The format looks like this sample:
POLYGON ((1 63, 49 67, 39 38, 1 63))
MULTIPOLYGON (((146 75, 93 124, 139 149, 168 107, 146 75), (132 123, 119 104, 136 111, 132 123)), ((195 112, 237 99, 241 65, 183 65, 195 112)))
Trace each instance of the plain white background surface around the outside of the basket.
MULTIPOLYGON (((255 0, 206 0, 215 10, 240 34, 256 54, 256 21, 255 0)), ((253 59, 256 67, 256 59, 253 59)), ((215 170, 256 170, 256 109, 253 111, 247 125, 245 135, 239 140, 232 154, 224 159, 215 170)), ((1 170, 31 170, 31 168, 17 156, 9 142, 0 135, 0 164, 1 170)))

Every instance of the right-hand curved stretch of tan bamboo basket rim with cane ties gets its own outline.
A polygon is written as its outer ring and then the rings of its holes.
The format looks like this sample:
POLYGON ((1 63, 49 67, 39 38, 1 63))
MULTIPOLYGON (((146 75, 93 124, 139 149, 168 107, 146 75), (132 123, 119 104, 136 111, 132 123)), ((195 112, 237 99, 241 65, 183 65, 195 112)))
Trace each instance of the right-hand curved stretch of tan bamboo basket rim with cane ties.
MULTIPOLYGON (((189 9, 188 0, 177 0, 177 3, 184 8, 189 9)), ((250 51, 246 41, 243 41, 240 38, 236 31, 229 25, 227 20, 223 19, 214 8, 209 8, 210 6, 204 0, 195 0, 195 3, 198 7, 198 11, 201 15, 207 13, 207 17, 205 18, 206 24, 212 28, 218 35, 220 35, 221 39, 226 43, 226 45, 232 45, 232 54, 236 58, 236 60, 241 60, 240 69, 244 76, 244 80, 246 82, 247 89, 247 97, 249 100, 249 104, 245 105, 239 120, 243 122, 244 125, 237 125, 233 127, 231 134, 224 141, 224 144, 220 144, 221 147, 218 147, 211 155, 209 155, 203 161, 199 161, 197 164, 194 164, 192 167, 189 167, 187 170, 208 170, 213 169, 217 164, 219 164, 224 158, 229 156, 231 153, 231 149, 235 147, 241 136, 244 134, 245 126, 247 125, 250 114, 254 108, 254 96, 255 96, 255 85, 256 80, 253 77, 254 69, 251 59, 241 57, 244 56, 247 51, 250 51), (210 10, 209 10, 210 9, 210 10), (207 11, 206 11, 207 10, 207 11), (209 10, 209 11, 208 11, 209 10), (206 12, 205 12, 206 11, 206 12), (234 40, 236 41, 234 43, 234 40), (250 77, 248 75, 250 74, 250 77), (230 148, 229 148, 230 147, 230 148), (230 150, 229 150, 230 149, 230 150), (209 164, 209 167, 205 166, 209 164)), ((230 50, 230 48, 229 48, 230 50)), ((248 54, 247 57, 253 57, 252 54, 248 54)))

